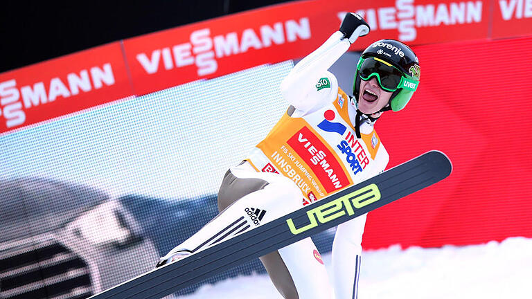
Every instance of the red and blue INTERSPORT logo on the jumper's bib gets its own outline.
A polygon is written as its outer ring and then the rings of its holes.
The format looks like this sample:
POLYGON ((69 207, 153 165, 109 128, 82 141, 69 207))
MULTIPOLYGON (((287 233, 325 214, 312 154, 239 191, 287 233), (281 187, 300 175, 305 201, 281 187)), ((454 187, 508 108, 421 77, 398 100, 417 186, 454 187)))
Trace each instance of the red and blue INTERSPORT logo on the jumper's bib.
POLYGON ((323 113, 323 117, 325 119, 318 124, 318 127, 323 131, 334 132, 340 136, 344 136, 344 134, 347 132, 347 134, 345 134, 346 136, 344 137, 345 140, 340 141, 337 147, 342 154, 346 155, 345 160, 349 167, 351 167, 351 170, 353 170, 353 174, 362 172, 362 170, 364 170, 364 168, 366 168, 366 166, 369 164, 369 158, 366 156, 364 147, 362 147, 358 139, 347 130, 345 125, 331 121, 335 119, 335 111, 326 110, 323 113))

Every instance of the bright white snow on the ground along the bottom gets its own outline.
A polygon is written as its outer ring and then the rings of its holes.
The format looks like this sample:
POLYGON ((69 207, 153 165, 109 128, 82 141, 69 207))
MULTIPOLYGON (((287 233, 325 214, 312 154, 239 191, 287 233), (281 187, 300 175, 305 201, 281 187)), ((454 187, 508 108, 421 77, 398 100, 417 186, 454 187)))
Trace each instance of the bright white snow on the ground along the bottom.
MULTIPOLYGON (((323 259, 329 264, 330 254, 323 259)), ((179 297, 199 298, 282 299, 267 275, 225 280, 179 297)), ((358 298, 532 298, 532 239, 364 251, 358 298)))

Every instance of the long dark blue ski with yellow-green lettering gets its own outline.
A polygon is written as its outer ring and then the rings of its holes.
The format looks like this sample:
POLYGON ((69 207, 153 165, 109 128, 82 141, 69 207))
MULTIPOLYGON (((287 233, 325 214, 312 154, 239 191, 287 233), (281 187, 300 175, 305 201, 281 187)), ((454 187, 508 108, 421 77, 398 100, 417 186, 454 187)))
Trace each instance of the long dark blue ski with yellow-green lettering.
POLYGON ((451 162, 445 154, 426 152, 362 183, 90 298, 162 298, 211 275, 396 201, 445 179, 451 171, 451 162))

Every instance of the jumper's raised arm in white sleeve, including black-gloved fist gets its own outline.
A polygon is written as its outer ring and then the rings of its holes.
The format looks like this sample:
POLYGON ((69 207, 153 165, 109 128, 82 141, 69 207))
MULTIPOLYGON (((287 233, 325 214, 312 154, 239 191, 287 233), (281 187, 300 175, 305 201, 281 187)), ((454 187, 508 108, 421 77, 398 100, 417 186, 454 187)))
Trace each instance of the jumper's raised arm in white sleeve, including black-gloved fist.
MULTIPOLYGON (((344 17, 339 31, 325 43, 301 60, 281 82, 281 94, 290 105, 301 111, 309 111, 327 97, 309 96, 318 80, 355 42, 357 37, 369 33, 369 26, 358 15, 350 12, 344 17)), ((336 91, 334 91, 336 93, 336 91)))

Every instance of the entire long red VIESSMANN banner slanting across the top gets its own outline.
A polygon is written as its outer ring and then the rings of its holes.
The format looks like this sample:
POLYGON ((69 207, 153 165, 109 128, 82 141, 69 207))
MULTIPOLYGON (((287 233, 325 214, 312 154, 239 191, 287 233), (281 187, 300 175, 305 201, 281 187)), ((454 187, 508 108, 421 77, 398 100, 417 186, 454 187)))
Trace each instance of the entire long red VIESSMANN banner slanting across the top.
POLYGON ((303 57, 338 30, 349 11, 371 26, 371 34, 352 50, 383 38, 420 45, 532 34, 530 0, 314 0, 269 6, 2 73, 0 134, 125 96, 303 57))

